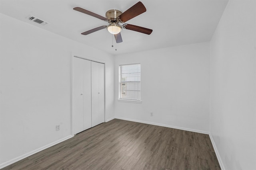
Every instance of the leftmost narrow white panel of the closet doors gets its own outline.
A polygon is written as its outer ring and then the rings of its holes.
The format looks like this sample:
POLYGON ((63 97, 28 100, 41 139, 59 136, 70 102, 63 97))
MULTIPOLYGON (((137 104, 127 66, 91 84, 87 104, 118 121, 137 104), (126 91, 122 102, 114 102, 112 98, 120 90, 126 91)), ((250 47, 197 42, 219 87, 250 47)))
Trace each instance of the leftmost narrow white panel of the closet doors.
POLYGON ((84 130, 84 103, 83 103, 83 62, 74 57, 73 63, 73 92, 74 92, 74 133, 84 130))

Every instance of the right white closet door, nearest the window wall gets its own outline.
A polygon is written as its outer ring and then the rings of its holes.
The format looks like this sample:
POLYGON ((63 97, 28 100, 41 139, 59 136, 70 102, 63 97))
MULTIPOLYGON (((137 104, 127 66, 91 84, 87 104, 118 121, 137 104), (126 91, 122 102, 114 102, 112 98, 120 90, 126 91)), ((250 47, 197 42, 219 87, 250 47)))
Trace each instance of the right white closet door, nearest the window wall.
POLYGON ((104 64, 92 61, 92 127, 105 121, 104 64))

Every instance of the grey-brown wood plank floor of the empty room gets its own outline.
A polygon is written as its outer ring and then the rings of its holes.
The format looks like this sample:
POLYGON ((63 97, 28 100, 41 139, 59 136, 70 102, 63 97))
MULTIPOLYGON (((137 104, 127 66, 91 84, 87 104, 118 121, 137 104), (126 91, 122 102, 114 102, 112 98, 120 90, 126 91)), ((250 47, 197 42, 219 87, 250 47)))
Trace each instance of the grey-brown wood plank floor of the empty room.
POLYGON ((220 170, 209 135, 113 119, 3 168, 220 170))

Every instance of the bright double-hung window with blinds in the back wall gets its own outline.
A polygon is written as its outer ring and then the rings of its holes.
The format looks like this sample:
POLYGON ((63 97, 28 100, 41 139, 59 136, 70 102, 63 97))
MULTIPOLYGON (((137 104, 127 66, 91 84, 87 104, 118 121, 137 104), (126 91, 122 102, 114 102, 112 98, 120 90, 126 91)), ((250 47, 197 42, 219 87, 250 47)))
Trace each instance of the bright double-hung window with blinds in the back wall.
POLYGON ((140 64, 120 65, 119 99, 140 101, 140 64))

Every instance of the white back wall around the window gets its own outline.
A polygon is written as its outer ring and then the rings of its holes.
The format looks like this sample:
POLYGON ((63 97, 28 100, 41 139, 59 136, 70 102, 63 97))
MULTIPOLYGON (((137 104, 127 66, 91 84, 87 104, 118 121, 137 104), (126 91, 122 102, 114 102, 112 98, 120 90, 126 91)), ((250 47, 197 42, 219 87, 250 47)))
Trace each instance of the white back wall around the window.
POLYGON ((209 48, 206 42, 116 56, 116 117, 209 131, 209 48), (141 104, 118 101, 118 66, 131 63, 141 63, 141 104))

